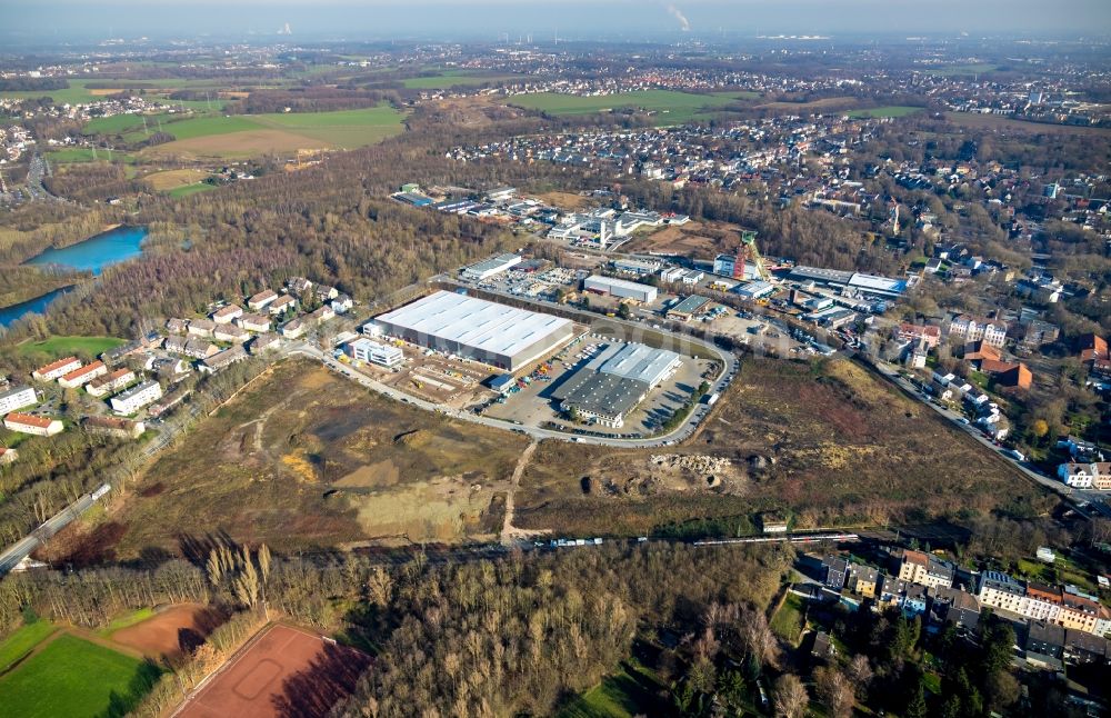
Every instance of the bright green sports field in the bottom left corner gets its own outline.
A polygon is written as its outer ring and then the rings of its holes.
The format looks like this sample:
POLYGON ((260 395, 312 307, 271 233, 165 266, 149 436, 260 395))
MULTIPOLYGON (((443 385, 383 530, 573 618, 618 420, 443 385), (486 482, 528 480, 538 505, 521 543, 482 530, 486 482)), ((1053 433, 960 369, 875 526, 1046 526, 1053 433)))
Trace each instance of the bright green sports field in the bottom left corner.
POLYGON ((0 677, 3 712, 22 718, 123 715, 159 669, 74 636, 60 636, 0 677))

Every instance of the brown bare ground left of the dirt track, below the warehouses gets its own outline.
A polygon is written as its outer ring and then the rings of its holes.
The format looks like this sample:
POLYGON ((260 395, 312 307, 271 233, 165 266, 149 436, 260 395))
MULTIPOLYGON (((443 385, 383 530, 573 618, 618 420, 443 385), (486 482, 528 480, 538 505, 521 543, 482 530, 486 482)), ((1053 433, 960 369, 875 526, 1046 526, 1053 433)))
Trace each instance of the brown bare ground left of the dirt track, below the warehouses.
POLYGON ((526 446, 290 360, 162 455, 122 508, 74 532, 106 533, 87 562, 186 555, 223 535, 279 550, 492 537, 526 446))

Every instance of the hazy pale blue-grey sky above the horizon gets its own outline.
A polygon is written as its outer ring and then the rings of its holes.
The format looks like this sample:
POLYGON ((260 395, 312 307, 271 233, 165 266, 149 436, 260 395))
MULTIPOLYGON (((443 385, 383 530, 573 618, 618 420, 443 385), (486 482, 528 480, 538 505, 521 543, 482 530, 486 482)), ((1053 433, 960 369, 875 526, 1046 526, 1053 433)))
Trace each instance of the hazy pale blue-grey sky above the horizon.
MULTIPOLYGON (((961 31, 1111 33, 1111 0, 0 0, 0 33, 29 41, 273 34, 479 37, 558 27, 565 38, 722 30, 904 36, 961 31)), ((44 42, 46 44, 46 42, 44 42)))

